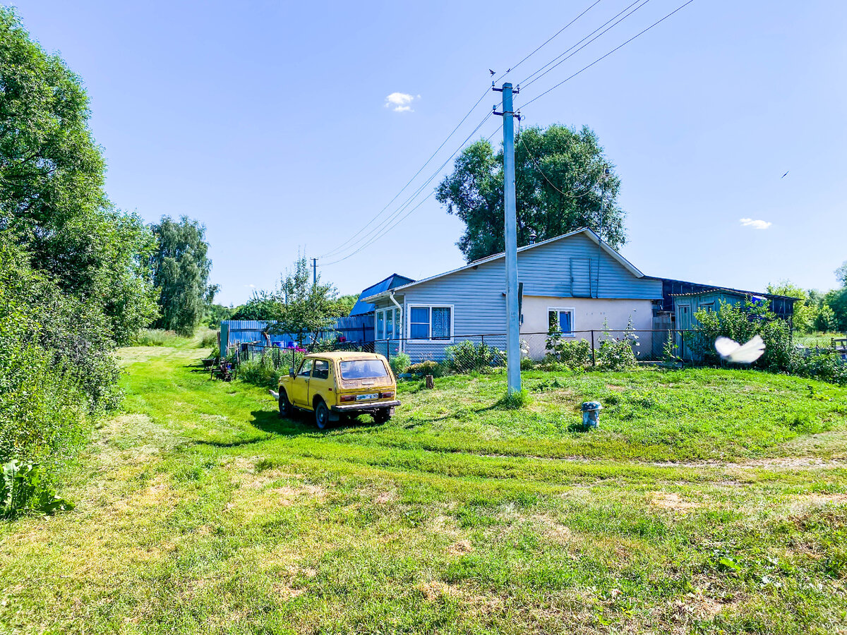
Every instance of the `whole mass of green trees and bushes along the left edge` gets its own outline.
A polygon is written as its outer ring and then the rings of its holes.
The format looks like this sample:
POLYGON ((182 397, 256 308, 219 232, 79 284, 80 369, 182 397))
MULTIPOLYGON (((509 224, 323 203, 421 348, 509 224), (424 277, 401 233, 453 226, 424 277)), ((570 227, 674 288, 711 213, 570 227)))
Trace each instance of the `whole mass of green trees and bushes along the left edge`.
POLYGON ((119 404, 112 351, 156 315, 155 241, 108 201, 80 78, 9 8, 0 86, 0 463, 33 466, 16 472, 29 475, 18 491, 36 475, 49 489, 119 404))

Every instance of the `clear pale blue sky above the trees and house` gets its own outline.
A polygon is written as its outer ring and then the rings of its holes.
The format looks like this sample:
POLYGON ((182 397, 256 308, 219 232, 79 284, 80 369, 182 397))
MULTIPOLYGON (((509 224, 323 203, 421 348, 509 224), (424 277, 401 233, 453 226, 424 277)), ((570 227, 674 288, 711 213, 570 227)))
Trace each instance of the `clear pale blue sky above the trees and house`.
MULTIPOLYGON (((518 63, 593 1, 14 5, 85 81, 113 202, 151 221, 201 220, 218 299, 238 304, 273 287, 298 253, 354 235, 490 86, 488 69, 518 63)), ((630 2, 601 0, 507 79, 523 80, 630 2)), ((683 2, 650 0, 516 103, 683 2)), ((623 182, 623 255, 645 273, 826 289, 847 259, 844 69, 847 3, 695 0, 523 109, 524 123, 595 130, 623 182)), ((397 202, 497 101, 483 99, 397 202)), ((474 138, 500 123, 490 117, 474 138)), ((461 231, 430 197, 320 272, 342 293, 393 272, 423 278, 462 264, 461 231)))

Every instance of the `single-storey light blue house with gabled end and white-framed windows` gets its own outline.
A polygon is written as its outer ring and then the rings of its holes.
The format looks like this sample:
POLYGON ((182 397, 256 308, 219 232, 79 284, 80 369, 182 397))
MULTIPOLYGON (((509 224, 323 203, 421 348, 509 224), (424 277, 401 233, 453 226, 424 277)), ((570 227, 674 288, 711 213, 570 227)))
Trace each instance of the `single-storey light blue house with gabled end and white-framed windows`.
MULTIPOLYGON (((404 351, 412 362, 444 356, 462 340, 505 348, 506 286, 503 254, 430 278, 363 297, 374 304, 377 351, 404 351)), ((544 356, 551 321, 565 337, 588 339, 604 323, 623 330, 653 328, 662 280, 648 278, 601 242, 591 229, 518 249, 524 354, 544 356)), ((649 336, 649 334, 647 334, 649 336)), ((642 343, 646 351, 651 342, 642 343)))

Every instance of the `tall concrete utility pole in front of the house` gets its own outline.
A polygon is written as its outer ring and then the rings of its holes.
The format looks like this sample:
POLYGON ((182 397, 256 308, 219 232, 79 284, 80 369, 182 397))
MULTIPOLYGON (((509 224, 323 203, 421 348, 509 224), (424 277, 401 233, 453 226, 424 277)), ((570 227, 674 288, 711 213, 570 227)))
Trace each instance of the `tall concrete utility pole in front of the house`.
MULTIPOLYGON (((521 317, 518 306, 518 218, 515 211, 515 113, 512 107, 512 84, 506 82, 492 90, 503 94, 503 210, 506 215, 506 377, 507 392, 521 389, 521 317)), ((518 86, 518 91, 520 86, 518 86)), ((519 115, 518 115, 519 116, 519 115)))

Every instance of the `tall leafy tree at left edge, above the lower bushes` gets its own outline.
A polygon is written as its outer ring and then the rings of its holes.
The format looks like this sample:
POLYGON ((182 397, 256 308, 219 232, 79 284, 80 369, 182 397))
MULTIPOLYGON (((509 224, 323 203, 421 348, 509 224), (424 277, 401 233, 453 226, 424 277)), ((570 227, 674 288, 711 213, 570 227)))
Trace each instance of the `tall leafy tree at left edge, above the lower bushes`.
POLYGON ((80 78, 0 8, 0 229, 36 271, 108 318, 119 344, 155 315, 152 236, 115 210, 80 78))

